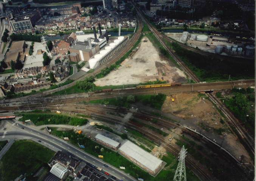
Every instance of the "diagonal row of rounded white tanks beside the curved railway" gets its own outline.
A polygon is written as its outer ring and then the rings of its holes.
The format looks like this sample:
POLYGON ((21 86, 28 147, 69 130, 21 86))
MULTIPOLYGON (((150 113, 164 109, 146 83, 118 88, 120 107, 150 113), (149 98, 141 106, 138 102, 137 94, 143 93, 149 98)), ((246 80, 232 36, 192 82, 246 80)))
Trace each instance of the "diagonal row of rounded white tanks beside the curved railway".
POLYGON ((112 51, 120 42, 124 40, 124 37, 118 37, 118 39, 114 40, 109 46, 106 46, 104 50, 101 50, 98 54, 96 54, 93 58, 89 60, 89 65, 91 69, 94 69, 99 66, 99 61, 104 58, 109 52, 112 51))

